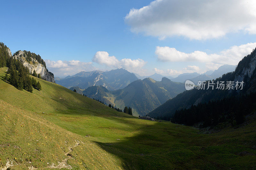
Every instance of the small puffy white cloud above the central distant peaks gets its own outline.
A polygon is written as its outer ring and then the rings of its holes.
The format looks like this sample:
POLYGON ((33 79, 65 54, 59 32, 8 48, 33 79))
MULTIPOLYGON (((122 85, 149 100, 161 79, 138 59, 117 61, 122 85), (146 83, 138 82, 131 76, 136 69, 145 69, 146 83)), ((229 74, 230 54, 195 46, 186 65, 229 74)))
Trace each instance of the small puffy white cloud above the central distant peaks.
POLYGON ((106 51, 98 51, 92 58, 93 62, 96 62, 100 65, 104 65, 110 68, 124 68, 131 72, 142 71, 142 67, 147 63, 141 59, 122 59, 118 60, 115 56, 109 56, 106 51))

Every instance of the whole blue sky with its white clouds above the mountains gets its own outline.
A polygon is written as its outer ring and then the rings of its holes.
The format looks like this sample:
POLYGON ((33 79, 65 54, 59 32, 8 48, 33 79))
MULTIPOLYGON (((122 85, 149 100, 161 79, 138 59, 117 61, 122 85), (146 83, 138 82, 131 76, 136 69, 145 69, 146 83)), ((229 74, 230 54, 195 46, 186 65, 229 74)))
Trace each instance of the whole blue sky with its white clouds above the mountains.
POLYGON ((216 13, 204 11, 200 1, 192 4, 193 9, 186 1, 150 3, 3 1, 0 41, 12 53, 28 50, 40 54, 47 68, 61 77, 82 70, 121 67, 140 75, 203 73, 223 64, 236 65, 256 47, 256 26, 251 24, 256 17, 247 10, 255 7, 253 1, 247 1, 249 6, 242 4, 244 8, 241 4, 229 5, 233 9, 229 11, 220 8, 226 4, 213 3, 211 9, 216 13), (183 7, 186 12, 182 12, 183 7), (238 7, 242 12, 236 14, 238 7), (129 14, 131 9, 135 10, 129 14), (197 15, 200 10, 209 15, 209 22, 197 15))

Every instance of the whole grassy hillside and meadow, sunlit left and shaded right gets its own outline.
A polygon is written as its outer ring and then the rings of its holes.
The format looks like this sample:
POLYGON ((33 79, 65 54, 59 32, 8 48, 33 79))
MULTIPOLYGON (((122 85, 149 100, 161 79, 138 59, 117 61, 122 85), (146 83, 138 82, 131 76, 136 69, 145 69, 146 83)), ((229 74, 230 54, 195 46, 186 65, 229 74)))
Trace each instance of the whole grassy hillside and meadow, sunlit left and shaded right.
MULTIPOLYGON (((0 78, 5 70, 0 68, 0 78)), ((0 167, 256 168, 255 121, 203 134, 188 126, 138 119, 36 80, 42 91, 31 94, 0 79, 0 167)))

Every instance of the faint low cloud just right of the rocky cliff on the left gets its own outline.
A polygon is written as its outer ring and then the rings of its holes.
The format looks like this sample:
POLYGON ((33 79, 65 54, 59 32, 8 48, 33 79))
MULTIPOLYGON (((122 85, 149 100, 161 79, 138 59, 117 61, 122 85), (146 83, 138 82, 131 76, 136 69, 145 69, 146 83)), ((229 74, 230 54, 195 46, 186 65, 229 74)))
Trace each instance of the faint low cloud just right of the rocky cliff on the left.
POLYGON ((96 69, 96 67, 92 66, 92 62, 81 62, 79 60, 45 60, 45 63, 49 71, 53 72, 55 76, 60 77, 74 75, 80 71, 92 71, 96 69))

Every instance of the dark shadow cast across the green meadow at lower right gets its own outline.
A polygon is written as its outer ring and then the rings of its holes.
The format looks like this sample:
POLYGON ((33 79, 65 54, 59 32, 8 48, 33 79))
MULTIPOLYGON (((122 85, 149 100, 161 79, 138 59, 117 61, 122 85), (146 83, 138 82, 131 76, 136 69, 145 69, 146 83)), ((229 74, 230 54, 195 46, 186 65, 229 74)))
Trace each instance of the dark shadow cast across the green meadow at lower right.
POLYGON ((124 169, 250 169, 256 163, 255 154, 246 159, 236 154, 249 149, 244 139, 235 142, 171 123, 156 122, 112 143, 94 142, 121 159, 124 169))

